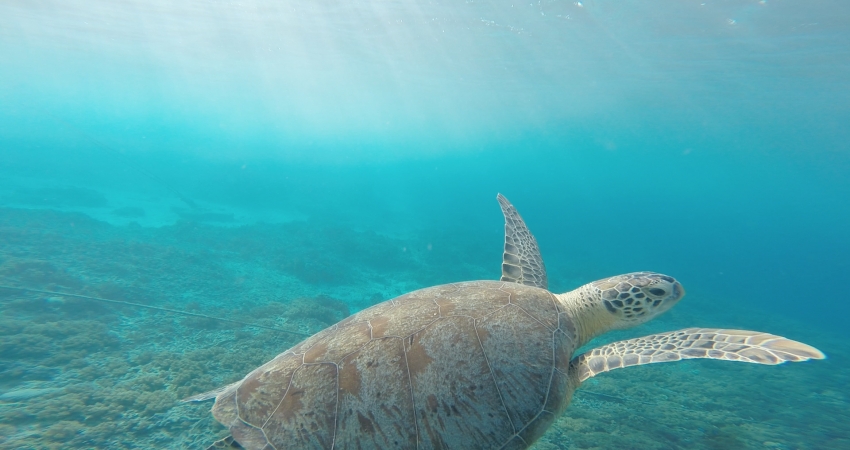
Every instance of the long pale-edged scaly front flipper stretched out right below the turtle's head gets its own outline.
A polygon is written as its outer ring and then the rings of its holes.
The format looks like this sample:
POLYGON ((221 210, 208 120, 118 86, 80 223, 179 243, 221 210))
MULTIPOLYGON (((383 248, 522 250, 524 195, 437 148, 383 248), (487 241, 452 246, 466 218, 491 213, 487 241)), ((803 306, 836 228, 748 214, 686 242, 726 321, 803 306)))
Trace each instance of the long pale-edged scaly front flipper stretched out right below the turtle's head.
POLYGON ((573 358, 570 371, 574 371, 581 382, 609 370, 692 358, 774 365, 826 356, 802 342, 768 333, 687 328, 597 347, 573 358))

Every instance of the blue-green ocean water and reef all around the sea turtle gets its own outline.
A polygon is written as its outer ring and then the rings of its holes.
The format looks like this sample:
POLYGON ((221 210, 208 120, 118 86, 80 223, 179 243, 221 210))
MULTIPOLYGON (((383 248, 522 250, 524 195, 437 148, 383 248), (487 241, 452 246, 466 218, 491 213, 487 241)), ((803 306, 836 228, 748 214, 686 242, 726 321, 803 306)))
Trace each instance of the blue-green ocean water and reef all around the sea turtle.
POLYGON ((687 289, 591 346, 828 356, 600 375, 533 448, 850 448, 848 124, 842 0, 5 0, 0 448, 206 448, 180 399, 498 279, 497 193, 552 291, 687 289))

